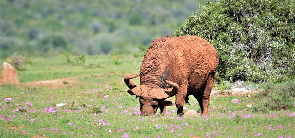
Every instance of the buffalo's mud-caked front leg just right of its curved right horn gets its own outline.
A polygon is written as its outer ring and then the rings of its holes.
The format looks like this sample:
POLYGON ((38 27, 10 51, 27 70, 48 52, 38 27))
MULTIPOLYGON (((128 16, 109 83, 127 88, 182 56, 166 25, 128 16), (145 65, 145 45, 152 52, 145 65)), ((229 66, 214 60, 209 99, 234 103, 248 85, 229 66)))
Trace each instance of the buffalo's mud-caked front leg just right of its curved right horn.
POLYGON ((187 87, 180 86, 175 98, 175 105, 177 108, 177 114, 182 116, 184 114, 183 104, 185 102, 185 97, 187 94, 187 87))

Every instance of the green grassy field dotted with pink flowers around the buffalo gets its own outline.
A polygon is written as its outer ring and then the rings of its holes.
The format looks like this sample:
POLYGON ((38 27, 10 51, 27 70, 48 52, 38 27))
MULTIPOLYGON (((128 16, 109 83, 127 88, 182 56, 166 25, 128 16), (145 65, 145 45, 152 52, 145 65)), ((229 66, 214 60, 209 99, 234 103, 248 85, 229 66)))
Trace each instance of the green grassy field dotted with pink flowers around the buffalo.
MULTIPOLYGON (((1 85, 1 137, 294 137, 294 82, 259 85, 249 95, 211 97, 208 117, 140 116, 138 99, 123 83, 142 57, 86 56, 84 66, 61 57, 31 58, 19 71, 20 85, 1 85), (65 78, 62 83, 33 81, 65 78), (65 106, 56 104, 66 103, 65 106), (251 107, 249 107, 251 105, 251 107)), ((2 64, 3 60, 1 61, 2 64)), ((139 84, 139 78, 134 79, 139 84)), ((215 85, 215 89, 223 86, 215 85)), ((174 101, 175 97, 170 100, 174 101)), ((185 110, 200 112, 195 98, 185 110)))

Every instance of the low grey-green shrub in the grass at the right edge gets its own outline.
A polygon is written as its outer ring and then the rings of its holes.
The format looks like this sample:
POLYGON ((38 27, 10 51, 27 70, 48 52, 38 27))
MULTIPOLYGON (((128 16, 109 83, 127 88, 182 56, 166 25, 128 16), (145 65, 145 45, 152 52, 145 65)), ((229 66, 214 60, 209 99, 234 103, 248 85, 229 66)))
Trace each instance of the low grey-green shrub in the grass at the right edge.
POLYGON ((263 112, 265 109, 282 110, 294 108, 295 81, 284 83, 267 83, 265 90, 253 95, 256 105, 255 111, 263 112))

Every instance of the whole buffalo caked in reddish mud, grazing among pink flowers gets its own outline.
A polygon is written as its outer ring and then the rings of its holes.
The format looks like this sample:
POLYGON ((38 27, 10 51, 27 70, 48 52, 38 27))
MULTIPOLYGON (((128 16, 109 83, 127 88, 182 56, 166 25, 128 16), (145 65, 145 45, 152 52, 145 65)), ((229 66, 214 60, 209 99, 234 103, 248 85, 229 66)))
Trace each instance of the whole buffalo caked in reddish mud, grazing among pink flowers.
POLYGON ((215 80, 218 56, 215 48, 197 36, 166 36, 154 39, 144 56, 139 75, 127 75, 127 92, 139 97, 142 115, 154 115, 160 108, 166 115, 167 98, 176 95, 177 114, 193 95, 202 115, 208 116, 210 93, 215 80), (140 76, 140 86, 130 79, 140 76))

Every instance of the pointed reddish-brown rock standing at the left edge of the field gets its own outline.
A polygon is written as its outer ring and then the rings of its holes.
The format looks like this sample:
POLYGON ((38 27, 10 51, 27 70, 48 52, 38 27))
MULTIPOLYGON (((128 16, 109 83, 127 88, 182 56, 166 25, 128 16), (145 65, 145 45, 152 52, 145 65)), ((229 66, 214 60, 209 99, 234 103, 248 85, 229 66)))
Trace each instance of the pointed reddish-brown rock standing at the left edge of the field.
POLYGON ((18 84, 19 77, 17 71, 10 64, 3 62, 1 72, 1 84, 18 84))

